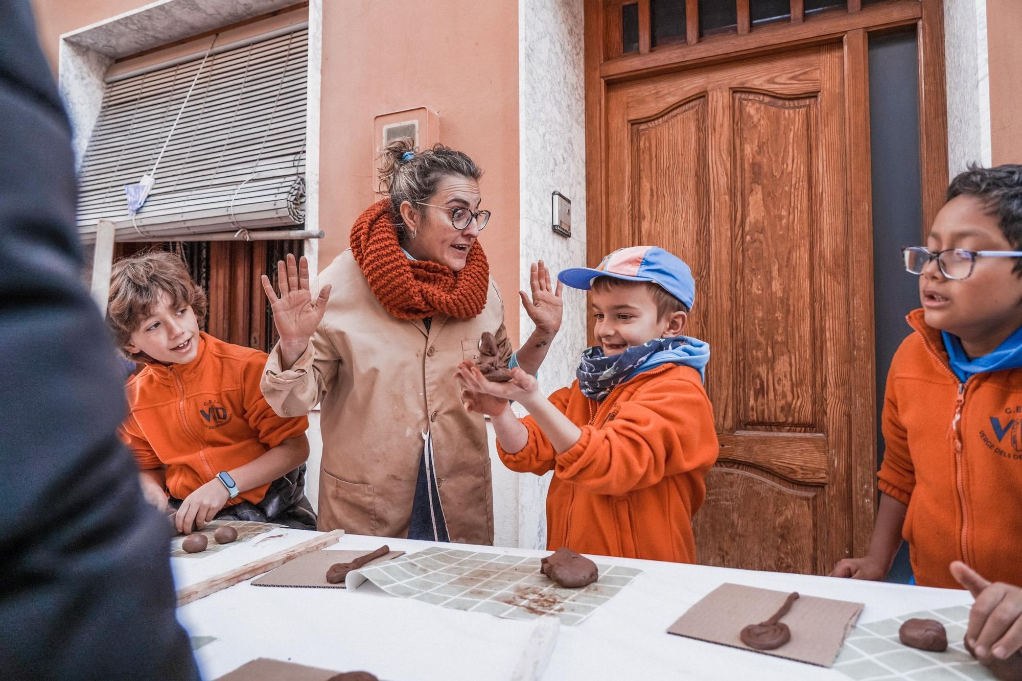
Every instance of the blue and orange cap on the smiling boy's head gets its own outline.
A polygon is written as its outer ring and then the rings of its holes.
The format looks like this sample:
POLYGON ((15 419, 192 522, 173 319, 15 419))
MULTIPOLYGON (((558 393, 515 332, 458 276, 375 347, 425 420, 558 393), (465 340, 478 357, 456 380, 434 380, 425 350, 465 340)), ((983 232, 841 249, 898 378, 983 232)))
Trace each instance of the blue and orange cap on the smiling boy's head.
POLYGON ((557 278, 572 288, 589 290, 593 279, 613 277, 625 281, 651 281, 684 303, 690 310, 696 297, 692 270, 678 256, 658 246, 618 248, 598 266, 569 267, 557 278))

